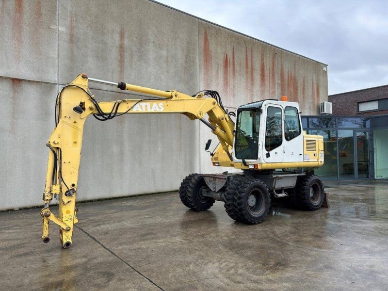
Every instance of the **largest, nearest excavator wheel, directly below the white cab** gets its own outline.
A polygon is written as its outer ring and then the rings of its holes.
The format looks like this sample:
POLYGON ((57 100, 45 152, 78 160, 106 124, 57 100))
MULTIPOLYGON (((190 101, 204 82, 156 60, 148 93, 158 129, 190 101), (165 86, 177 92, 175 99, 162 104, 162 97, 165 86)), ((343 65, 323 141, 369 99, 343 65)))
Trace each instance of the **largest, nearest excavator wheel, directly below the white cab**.
POLYGON ((261 223, 271 205, 267 185, 259 179, 233 178, 226 188, 225 197, 225 209, 229 217, 246 224, 261 223))

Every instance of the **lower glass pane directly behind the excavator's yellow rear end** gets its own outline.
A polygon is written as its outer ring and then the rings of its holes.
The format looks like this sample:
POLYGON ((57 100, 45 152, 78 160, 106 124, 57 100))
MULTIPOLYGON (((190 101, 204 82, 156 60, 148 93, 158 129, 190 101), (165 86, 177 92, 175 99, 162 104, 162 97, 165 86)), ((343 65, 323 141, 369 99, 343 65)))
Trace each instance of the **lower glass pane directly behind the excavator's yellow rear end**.
POLYGON ((337 132, 336 130, 308 130, 308 134, 322 135, 324 164, 315 169, 323 180, 337 180, 337 132))

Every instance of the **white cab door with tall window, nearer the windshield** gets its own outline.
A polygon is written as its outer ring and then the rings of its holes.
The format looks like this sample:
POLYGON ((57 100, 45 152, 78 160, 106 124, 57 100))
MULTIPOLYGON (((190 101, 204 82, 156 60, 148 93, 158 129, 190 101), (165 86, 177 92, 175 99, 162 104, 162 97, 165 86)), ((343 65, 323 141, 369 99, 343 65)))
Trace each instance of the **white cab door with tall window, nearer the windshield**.
POLYGON ((283 109, 279 105, 268 103, 265 113, 263 160, 265 162, 283 162, 283 109))

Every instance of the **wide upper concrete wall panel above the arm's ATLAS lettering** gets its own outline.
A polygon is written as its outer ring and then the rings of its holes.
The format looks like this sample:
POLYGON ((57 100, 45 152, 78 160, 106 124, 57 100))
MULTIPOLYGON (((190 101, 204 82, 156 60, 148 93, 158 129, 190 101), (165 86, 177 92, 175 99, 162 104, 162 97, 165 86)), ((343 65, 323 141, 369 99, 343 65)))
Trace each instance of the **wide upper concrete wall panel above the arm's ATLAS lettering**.
MULTIPOLYGON (((59 81, 198 89, 198 20, 146 0, 59 1, 59 81)), ((91 84, 94 88, 101 88, 91 84)))

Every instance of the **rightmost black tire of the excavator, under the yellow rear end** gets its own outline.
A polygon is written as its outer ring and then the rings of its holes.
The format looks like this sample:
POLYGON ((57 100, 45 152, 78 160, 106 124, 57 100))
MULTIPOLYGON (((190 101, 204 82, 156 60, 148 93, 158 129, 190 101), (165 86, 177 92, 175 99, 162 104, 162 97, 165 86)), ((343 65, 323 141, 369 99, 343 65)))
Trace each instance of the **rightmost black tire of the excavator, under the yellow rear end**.
POLYGON ((306 175, 298 179, 295 187, 294 201, 305 210, 318 210, 324 200, 324 187, 321 178, 306 175))

